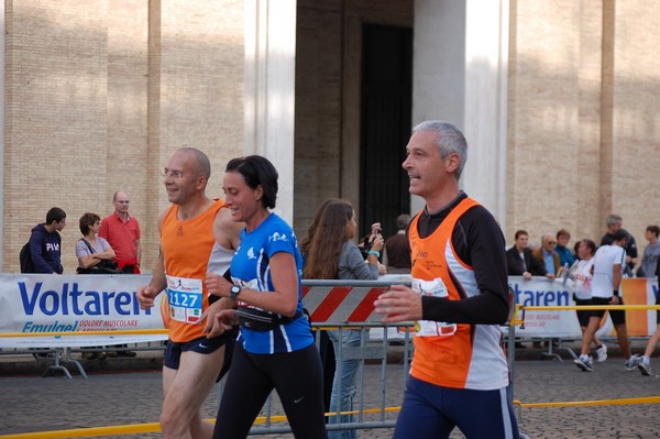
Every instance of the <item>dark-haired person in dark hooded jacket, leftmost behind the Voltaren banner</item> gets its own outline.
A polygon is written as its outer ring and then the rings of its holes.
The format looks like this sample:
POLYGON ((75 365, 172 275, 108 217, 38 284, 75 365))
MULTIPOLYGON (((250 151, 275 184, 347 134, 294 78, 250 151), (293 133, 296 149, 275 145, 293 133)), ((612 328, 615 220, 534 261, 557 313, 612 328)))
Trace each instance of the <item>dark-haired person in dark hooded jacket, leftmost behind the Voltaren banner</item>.
POLYGON ((32 229, 30 235, 30 257, 35 273, 62 274, 62 255, 59 232, 66 226, 66 213, 54 207, 46 213, 46 222, 32 229))

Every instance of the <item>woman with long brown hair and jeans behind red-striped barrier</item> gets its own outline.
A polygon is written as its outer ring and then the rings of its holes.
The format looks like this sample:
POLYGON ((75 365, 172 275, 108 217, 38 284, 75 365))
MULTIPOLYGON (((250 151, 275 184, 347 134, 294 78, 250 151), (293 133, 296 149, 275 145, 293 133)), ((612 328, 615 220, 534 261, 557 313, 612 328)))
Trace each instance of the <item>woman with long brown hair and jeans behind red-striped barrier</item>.
MULTIPOLYGON (((318 209, 310 230, 312 237, 306 245, 306 279, 365 279, 378 278, 378 257, 383 250, 383 237, 372 235, 372 246, 364 261, 360 249, 352 240, 355 238, 358 223, 355 210, 349 201, 336 199, 324 202, 324 209, 318 209)), ((374 224, 372 230, 380 229, 374 224)), ((342 350, 349 347, 361 347, 369 341, 369 332, 362 330, 332 330, 328 336, 334 347, 337 370, 332 383, 330 411, 353 410, 355 382, 362 371, 361 360, 343 360, 342 350)), ((352 422, 353 415, 331 416, 330 424, 352 422)), ((355 430, 333 430, 328 432, 329 439, 355 439, 355 430)))

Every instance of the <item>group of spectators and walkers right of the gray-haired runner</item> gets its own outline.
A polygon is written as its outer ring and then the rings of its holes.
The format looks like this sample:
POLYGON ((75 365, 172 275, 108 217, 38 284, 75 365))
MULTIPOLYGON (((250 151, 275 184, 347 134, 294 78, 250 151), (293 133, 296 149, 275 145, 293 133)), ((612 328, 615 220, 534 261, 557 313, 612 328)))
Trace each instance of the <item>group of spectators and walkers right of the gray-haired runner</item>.
MULTIPOLYGON (((569 249, 571 234, 561 229, 556 234, 543 233, 541 244, 529 245, 529 233, 517 230, 515 243, 506 251, 508 274, 530 279, 532 276, 571 277, 575 283, 574 298, 576 305, 624 305, 619 295, 620 281, 624 277, 660 276, 660 227, 648 226, 645 238, 648 244, 641 259, 631 233, 623 228, 623 219, 618 215, 609 215, 605 220, 607 232, 601 239, 596 249, 595 242, 588 238, 578 240, 573 252, 569 249), (636 270, 637 268, 637 270, 636 270)), ((656 305, 660 299, 656 297, 656 305)), ((575 365, 585 372, 593 372, 594 361, 591 355, 591 344, 597 362, 607 358, 607 347, 596 337, 596 330, 605 315, 604 309, 578 311, 582 329, 582 350, 575 365)), ((609 310, 616 330, 617 341, 626 358, 626 370, 638 369, 642 375, 651 375, 650 356, 660 342, 660 310, 657 312, 658 325, 656 332, 647 343, 644 355, 632 354, 626 329, 625 311, 609 310)), ((535 343, 539 347, 538 342, 535 343)), ((516 348, 525 348, 520 342, 516 348)))

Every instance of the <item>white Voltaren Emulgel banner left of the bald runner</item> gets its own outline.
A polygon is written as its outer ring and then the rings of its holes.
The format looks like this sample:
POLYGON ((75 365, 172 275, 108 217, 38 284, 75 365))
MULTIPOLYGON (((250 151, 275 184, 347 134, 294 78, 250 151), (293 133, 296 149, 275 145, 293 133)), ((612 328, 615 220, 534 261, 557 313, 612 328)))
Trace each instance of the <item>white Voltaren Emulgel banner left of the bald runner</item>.
POLYGON ((160 299, 140 309, 138 288, 150 275, 0 274, 0 348, 109 345, 165 340, 163 334, 82 336, 86 331, 163 329, 160 299), (48 332, 80 336, 44 336, 48 332))

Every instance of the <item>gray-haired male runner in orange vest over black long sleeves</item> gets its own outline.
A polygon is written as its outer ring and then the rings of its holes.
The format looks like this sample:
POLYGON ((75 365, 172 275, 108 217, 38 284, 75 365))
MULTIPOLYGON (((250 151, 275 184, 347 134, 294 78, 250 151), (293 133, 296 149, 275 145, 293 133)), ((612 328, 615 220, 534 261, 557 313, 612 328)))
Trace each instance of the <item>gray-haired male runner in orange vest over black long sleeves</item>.
POLYGON ((410 194, 426 201, 408 228, 411 288, 392 285, 374 303, 385 323, 417 321, 394 439, 449 438, 455 427, 469 438, 518 438, 499 345, 509 310, 504 235, 459 188, 468 143, 453 124, 420 123, 406 152, 410 194))

